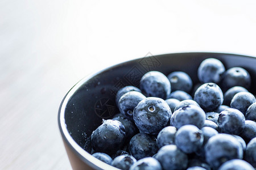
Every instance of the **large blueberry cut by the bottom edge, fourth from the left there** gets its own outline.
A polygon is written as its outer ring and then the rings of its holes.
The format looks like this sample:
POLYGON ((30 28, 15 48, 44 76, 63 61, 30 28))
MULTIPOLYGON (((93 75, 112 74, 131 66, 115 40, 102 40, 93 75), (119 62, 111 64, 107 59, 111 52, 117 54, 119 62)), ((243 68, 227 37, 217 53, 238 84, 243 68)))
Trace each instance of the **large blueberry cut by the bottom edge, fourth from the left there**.
POLYGON ((185 169, 188 164, 188 156, 176 145, 166 145, 160 148, 156 159, 164 170, 185 169))

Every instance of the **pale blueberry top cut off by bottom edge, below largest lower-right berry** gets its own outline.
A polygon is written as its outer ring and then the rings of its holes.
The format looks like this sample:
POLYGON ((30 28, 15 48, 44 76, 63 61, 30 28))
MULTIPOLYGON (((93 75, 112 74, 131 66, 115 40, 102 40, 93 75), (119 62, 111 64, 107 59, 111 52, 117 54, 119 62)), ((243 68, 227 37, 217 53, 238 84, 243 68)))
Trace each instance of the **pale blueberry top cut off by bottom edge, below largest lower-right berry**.
POLYGON ((241 159, 232 159, 224 164, 221 165, 221 167, 218 170, 254 170, 253 166, 249 163, 247 163, 245 160, 241 159))

